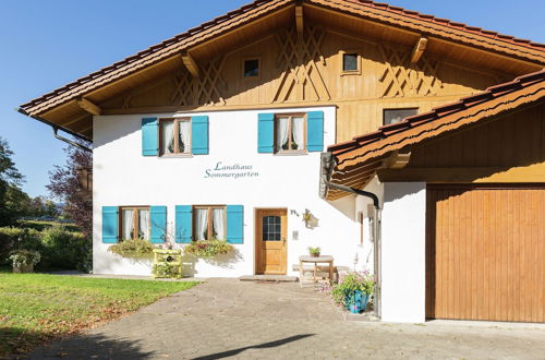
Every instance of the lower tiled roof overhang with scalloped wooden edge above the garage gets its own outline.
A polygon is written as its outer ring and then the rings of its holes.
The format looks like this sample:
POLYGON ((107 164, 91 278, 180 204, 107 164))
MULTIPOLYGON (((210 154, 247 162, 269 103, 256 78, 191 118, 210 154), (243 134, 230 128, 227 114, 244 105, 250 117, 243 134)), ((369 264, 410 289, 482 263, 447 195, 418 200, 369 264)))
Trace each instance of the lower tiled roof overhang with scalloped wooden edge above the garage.
MULTIPOLYGON (((332 182, 363 189, 380 169, 401 168, 410 161, 411 148, 440 136, 471 129, 498 116, 545 99, 545 70, 517 77, 509 83, 405 118, 350 142, 328 147, 330 158, 323 161, 323 183, 332 182)), ((347 196, 347 192, 323 187, 327 200, 347 196)))

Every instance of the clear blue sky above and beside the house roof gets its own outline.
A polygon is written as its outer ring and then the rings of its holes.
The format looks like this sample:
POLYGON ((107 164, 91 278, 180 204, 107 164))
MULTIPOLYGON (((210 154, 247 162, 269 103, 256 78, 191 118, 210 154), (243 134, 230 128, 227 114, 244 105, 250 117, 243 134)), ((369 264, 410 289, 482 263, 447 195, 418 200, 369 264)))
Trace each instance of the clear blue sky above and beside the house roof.
MULTIPOLYGON (((47 195, 48 171, 64 163, 51 129, 14 109, 250 0, 1 0, 0 136, 24 190, 47 195)), ((545 43, 543 0, 391 0, 392 5, 545 43)))

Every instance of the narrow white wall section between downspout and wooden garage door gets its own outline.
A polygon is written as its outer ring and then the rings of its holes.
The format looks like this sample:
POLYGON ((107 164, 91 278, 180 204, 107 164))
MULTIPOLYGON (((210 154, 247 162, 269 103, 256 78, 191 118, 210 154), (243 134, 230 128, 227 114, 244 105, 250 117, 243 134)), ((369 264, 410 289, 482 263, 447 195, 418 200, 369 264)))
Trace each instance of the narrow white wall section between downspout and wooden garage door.
POLYGON ((382 319, 425 321, 426 184, 384 184, 382 319))

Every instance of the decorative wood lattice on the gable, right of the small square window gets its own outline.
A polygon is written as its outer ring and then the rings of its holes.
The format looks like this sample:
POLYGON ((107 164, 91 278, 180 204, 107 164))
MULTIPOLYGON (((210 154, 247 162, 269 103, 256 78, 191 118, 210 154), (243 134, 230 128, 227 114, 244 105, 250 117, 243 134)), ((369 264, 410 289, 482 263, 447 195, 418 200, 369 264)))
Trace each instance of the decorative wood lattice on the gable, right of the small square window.
POLYGON ((437 95, 443 83, 437 76, 439 61, 425 56, 410 64, 411 53, 378 45, 385 63, 379 77, 383 83, 382 97, 437 95))

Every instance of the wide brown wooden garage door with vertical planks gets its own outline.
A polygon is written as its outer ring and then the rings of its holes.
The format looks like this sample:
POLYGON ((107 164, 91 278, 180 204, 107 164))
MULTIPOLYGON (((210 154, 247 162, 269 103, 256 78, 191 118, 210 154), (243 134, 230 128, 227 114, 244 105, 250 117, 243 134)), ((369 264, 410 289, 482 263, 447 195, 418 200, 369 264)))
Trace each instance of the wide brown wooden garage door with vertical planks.
POLYGON ((545 322, 545 185, 428 187, 426 315, 545 322))

